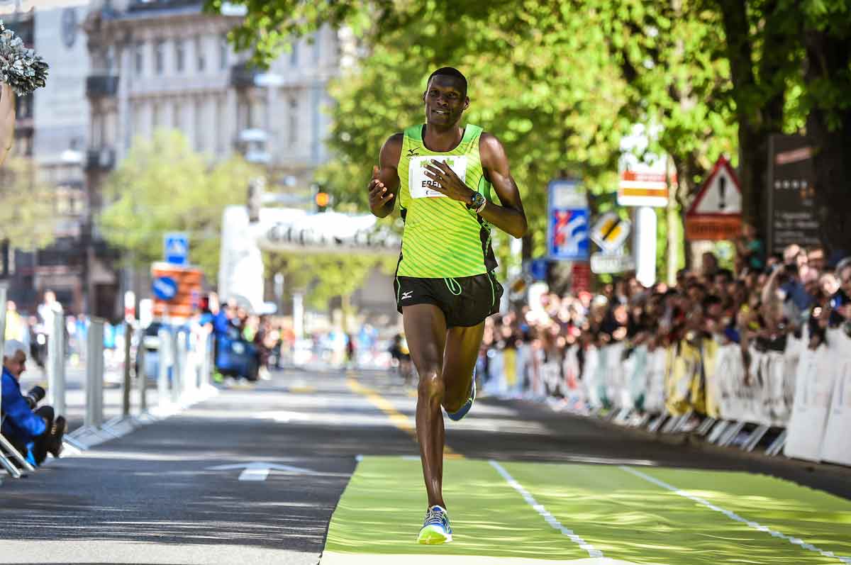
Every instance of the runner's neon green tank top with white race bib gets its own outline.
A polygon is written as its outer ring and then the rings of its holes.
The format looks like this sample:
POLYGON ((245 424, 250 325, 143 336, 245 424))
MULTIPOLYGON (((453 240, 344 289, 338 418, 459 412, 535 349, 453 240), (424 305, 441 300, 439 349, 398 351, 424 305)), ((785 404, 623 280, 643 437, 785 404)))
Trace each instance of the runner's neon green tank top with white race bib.
POLYGON ((445 159, 455 174, 488 201, 491 185, 479 157, 482 128, 467 124, 452 151, 429 151, 422 141, 425 126, 405 130, 399 157, 399 206, 405 230, 397 276, 420 278, 471 277, 496 268, 490 224, 464 203, 432 190, 423 172, 431 159, 445 159))

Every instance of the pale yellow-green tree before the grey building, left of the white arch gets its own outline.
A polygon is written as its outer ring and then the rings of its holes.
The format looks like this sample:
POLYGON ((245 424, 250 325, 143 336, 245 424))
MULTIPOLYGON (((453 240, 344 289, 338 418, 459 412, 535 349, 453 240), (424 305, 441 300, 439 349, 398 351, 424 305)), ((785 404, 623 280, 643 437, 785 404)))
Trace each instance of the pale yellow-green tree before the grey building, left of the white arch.
POLYGON ((163 234, 186 231, 191 262, 215 281, 222 213, 228 205, 245 203, 248 179, 258 174, 241 157, 210 167, 179 131, 157 130, 151 139, 136 138, 106 180, 101 229, 142 268, 163 260, 163 234))

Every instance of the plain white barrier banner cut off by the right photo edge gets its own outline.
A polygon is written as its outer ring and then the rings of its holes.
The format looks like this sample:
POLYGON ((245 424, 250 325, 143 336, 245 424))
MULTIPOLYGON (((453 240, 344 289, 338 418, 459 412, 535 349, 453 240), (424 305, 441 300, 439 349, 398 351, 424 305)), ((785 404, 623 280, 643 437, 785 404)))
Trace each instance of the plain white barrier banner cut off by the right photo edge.
POLYGON ((827 414, 821 459, 851 465, 851 338, 841 329, 828 330, 833 391, 827 414))

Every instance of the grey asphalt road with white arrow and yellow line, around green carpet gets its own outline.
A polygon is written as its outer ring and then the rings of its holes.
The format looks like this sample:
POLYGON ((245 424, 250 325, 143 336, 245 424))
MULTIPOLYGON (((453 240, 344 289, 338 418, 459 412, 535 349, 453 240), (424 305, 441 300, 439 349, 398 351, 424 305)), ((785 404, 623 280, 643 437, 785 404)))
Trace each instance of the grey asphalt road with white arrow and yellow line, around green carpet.
MULTIPOLYGON (((31 477, 4 478, 0 562, 313 565, 356 456, 418 453, 414 406, 380 373, 293 371, 223 390, 31 477), (279 468, 265 480, 212 469, 261 462, 279 468)), ((467 458, 751 471, 851 499, 843 468, 649 441, 532 402, 481 399, 448 422, 447 440, 467 458)), ((425 506, 421 483, 411 488, 425 506)))

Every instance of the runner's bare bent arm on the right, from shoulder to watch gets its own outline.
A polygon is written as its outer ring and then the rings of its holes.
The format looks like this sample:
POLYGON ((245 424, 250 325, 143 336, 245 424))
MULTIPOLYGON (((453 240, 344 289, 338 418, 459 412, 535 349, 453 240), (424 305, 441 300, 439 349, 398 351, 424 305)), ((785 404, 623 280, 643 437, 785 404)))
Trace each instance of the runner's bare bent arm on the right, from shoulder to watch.
POLYGON ((528 229, 526 213, 523 212, 517 183, 511 176, 505 149, 493 134, 484 133, 479 139, 479 154, 485 177, 494 185, 494 191, 502 204, 488 202, 479 215, 509 235, 523 237, 528 229))

